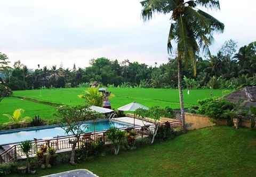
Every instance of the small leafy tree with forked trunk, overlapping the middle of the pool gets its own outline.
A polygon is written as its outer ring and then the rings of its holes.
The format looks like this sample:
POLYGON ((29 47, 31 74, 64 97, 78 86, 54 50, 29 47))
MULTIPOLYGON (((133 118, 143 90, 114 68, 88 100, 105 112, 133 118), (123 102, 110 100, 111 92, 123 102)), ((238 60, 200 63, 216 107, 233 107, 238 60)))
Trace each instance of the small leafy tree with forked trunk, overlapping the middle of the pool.
POLYGON ((57 109, 57 117, 61 118, 61 128, 66 134, 73 135, 74 139, 69 139, 72 144, 70 164, 75 164, 76 146, 79 143, 81 134, 85 133, 86 125, 81 121, 93 119, 97 116, 89 106, 61 106, 57 109))

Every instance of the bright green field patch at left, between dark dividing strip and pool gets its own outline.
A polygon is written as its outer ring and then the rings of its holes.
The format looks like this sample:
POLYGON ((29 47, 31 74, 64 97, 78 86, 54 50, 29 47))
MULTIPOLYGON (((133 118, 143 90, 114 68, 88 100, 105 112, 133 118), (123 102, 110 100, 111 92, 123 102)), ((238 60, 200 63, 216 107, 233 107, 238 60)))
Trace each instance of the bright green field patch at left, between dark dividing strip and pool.
POLYGON ((15 109, 24 109, 23 116, 34 117, 40 115, 43 119, 53 119, 55 108, 46 104, 35 103, 18 98, 5 98, 0 102, 0 123, 9 122, 9 118, 3 114, 12 115, 15 109))

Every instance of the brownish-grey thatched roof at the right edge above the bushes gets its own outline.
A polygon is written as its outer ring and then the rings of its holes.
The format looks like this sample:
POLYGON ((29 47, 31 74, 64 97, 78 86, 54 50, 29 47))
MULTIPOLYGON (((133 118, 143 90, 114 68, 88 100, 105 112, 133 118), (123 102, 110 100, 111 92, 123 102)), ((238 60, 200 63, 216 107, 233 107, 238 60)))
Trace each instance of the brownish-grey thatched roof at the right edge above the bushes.
POLYGON ((256 107, 256 86, 246 86, 241 90, 228 94, 225 98, 234 103, 242 102, 245 107, 256 107))

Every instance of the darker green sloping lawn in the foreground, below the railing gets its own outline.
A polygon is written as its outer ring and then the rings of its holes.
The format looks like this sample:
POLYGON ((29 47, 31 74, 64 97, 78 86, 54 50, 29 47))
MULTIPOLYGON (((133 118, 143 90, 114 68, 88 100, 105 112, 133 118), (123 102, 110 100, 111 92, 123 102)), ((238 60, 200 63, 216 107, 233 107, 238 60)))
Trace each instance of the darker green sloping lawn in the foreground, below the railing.
MULTIPOLYGON (((216 126, 174 140, 121 151, 71 166, 39 170, 42 176, 86 168, 99 176, 256 176, 256 131, 216 126)), ((17 175, 11 175, 17 176, 17 175)))

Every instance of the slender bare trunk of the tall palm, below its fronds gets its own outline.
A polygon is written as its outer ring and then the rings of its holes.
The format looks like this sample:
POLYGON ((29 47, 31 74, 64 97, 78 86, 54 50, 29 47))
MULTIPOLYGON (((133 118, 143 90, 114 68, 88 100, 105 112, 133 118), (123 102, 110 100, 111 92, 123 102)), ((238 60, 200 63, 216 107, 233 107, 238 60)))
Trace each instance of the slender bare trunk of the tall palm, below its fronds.
POLYGON ((185 124, 184 99, 183 99, 181 78, 182 78, 181 59, 178 58, 178 87, 179 87, 179 97, 180 97, 180 119, 182 121, 183 131, 186 132, 187 128, 186 128, 186 124, 185 124))

